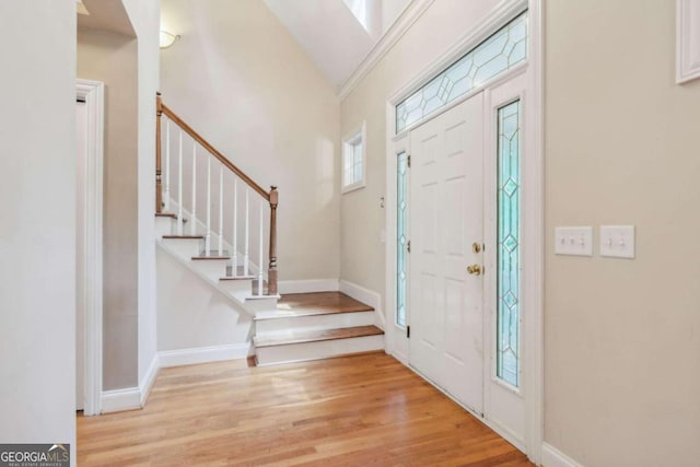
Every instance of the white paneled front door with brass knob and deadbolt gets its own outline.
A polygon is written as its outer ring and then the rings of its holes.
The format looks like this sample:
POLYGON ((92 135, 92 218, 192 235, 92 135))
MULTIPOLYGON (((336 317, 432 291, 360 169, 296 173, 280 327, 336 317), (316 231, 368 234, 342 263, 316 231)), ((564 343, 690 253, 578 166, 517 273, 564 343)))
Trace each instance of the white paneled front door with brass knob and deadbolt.
POLYGON ((483 412, 483 93, 410 132, 410 364, 483 412), (476 247, 475 247, 476 245, 476 247))

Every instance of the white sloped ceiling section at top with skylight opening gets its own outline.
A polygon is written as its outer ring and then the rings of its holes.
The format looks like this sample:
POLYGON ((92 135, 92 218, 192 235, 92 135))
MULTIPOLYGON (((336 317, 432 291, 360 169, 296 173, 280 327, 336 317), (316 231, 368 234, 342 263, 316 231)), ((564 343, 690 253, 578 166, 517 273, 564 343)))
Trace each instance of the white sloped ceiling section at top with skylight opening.
POLYGON ((348 0, 265 0, 328 80, 339 87, 411 0, 354 0, 375 14, 369 33, 348 0))

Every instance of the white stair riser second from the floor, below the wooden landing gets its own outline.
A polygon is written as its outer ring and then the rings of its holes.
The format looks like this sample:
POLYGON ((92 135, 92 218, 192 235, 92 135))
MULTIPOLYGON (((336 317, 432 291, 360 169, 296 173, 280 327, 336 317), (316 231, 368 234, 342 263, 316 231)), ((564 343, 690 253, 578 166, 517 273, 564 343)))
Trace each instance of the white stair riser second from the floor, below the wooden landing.
POLYGON ((268 336, 284 335, 290 331, 338 329, 343 327, 370 326, 373 324, 374 312, 358 312, 256 319, 255 329, 256 336, 268 336))

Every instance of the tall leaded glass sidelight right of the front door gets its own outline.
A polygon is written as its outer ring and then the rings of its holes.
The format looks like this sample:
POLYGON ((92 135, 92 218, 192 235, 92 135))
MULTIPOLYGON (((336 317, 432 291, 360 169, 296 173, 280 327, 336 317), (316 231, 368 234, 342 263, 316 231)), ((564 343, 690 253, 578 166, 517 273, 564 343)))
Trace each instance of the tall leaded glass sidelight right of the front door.
POLYGON ((521 103, 498 110, 497 375, 520 387, 521 103))

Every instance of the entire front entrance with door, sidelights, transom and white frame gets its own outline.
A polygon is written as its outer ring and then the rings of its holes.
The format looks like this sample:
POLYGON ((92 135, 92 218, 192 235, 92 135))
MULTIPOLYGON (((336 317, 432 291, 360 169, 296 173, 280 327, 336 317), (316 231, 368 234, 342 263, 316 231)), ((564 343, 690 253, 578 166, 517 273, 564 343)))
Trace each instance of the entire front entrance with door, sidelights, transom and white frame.
POLYGON ((386 232, 396 242, 386 248, 387 352, 535 464, 544 383, 541 13, 539 0, 494 8, 386 103, 386 232), (481 115, 470 114, 479 100, 481 115), (480 156, 471 135, 479 128, 480 156))

